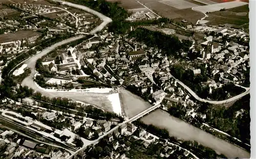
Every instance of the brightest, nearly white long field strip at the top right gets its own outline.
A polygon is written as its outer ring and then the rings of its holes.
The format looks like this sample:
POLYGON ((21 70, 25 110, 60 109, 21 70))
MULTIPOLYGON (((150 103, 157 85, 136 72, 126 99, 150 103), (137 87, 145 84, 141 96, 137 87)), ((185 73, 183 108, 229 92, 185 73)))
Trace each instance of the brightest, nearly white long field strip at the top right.
POLYGON ((219 11, 224 8, 230 9, 230 8, 240 7, 240 6, 244 6, 247 4, 248 3, 246 3, 246 2, 234 1, 234 2, 214 4, 214 5, 199 6, 199 7, 195 7, 194 9, 197 11, 206 13, 206 12, 216 12, 216 11, 219 11))

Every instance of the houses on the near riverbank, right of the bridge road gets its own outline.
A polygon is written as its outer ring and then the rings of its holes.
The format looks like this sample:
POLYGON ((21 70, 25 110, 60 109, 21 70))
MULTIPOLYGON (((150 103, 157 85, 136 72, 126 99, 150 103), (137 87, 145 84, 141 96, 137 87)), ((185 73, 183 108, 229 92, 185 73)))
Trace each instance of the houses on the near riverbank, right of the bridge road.
MULTIPOLYGON (((104 158, 126 158, 129 151, 133 148, 128 142, 139 142, 140 146, 143 148, 148 148, 152 144, 159 144, 161 146, 161 157, 172 157, 173 154, 177 153, 178 158, 194 158, 187 150, 182 149, 181 147, 171 144, 168 141, 159 139, 157 136, 148 133, 146 130, 139 128, 131 123, 123 124, 120 126, 120 131, 114 131, 113 134, 110 134, 108 137, 108 146, 112 148, 111 154, 105 156, 104 158), (115 136, 113 138, 113 136, 115 136), (123 138, 127 138, 122 142, 123 138)), ((137 146, 139 146, 137 145, 137 146)), ((86 154, 84 155, 86 156, 86 154)), ((173 156, 174 157, 174 156, 173 156)))

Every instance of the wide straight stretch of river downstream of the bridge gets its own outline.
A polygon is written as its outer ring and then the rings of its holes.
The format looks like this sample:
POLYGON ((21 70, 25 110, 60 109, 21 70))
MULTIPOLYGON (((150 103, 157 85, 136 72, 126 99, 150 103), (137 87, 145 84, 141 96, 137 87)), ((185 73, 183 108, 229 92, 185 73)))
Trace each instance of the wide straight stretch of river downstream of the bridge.
POLYGON ((141 118, 141 121, 145 124, 153 124, 161 128, 166 128, 169 131, 170 136, 174 136, 178 139, 197 141, 202 145, 215 150, 217 153, 224 154, 228 158, 250 158, 250 153, 244 149, 206 133, 206 131, 181 119, 170 116, 167 112, 161 109, 144 116, 141 118))

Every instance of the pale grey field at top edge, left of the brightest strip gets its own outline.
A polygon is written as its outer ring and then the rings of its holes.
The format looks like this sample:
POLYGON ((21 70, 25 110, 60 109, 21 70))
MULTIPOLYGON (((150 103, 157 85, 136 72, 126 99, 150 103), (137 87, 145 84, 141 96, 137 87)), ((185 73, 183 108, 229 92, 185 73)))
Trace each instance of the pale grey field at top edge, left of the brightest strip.
POLYGON ((168 5, 170 7, 174 7, 177 9, 187 9, 187 8, 193 8, 193 7, 198 7, 199 5, 196 5, 194 3, 190 3, 184 0, 164 0, 160 1, 160 3, 168 5))

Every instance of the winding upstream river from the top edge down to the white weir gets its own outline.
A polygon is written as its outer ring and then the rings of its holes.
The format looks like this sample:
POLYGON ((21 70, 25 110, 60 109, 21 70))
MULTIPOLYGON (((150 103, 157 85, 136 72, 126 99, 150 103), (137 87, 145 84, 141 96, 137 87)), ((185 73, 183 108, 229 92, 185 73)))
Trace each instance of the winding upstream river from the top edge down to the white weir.
MULTIPOLYGON (((93 31, 91 31, 92 34, 95 34, 99 31, 101 31, 105 25, 107 25, 108 23, 110 23, 112 21, 111 18, 106 17, 105 15, 103 15, 97 11, 94 11, 86 6, 72 4, 69 2, 65 2, 65 1, 57 1, 57 2, 60 2, 62 4, 65 4, 65 5, 68 5, 71 7, 85 10, 86 12, 92 13, 92 14, 98 16, 100 19, 102 19, 103 22, 99 26, 97 26, 95 29, 93 29, 93 31)), ((69 38, 67 40, 63 40, 61 42, 55 43, 54 45, 48 47, 47 49, 42 50, 35 56, 33 56, 30 59, 28 59, 27 61, 25 61, 25 64, 28 65, 27 67, 31 69, 31 74, 23 80, 22 86, 28 86, 29 88, 32 88, 37 92, 40 92, 42 95, 48 96, 51 98, 52 97, 67 97, 69 99, 82 101, 82 102, 86 102, 86 103, 95 105, 96 107, 99 107, 104 110, 113 111, 112 102, 108 99, 108 95, 109 95, 108 93, 49 92, 49 91, 39 88, 33 81, 33 77, 36 73, 35 72, 35 63, 39 58, 48 54, 48 52, 54 50, 56 47, 58 47, 60 45, 67 44, 69 42, 78 40, 83 37, 84 36, 69 38)))

